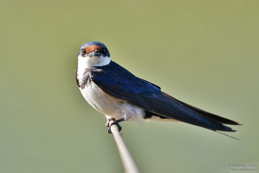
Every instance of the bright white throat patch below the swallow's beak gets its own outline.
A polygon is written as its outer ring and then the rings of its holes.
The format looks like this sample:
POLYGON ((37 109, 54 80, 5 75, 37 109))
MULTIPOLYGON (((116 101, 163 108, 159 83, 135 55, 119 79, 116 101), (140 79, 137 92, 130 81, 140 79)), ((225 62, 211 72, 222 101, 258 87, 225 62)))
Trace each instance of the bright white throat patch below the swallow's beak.
POLYGON ((100 66, 105 66, 108 65, 111 62, 110 57, 104 57, 104 56, 78 56, 78 67, 77 67, 77 75, 79 78, 79 81, 81 81, 84 70, 88 67, 100 67, 100 66))

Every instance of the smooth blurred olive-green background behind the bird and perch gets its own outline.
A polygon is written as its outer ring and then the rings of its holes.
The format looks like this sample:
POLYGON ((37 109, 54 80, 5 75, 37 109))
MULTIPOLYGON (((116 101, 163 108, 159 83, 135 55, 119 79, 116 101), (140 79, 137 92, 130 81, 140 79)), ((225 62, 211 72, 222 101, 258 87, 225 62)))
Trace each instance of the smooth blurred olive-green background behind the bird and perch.
POLYGON ((243 123, 240 141, 185 123, 123 122, 141 172, 257 164, 258 1, 0 1, 0 172, 123 172, 104 115, 74 76, 79 47, 243 123), (112 166, 110 166, 112 165, 112 166))

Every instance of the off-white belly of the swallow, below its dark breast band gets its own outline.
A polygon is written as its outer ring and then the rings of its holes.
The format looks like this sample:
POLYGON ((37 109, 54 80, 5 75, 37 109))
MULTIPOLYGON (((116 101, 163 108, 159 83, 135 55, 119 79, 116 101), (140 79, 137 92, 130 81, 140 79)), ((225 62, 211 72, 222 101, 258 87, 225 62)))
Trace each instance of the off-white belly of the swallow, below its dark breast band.
POLYGON ((85 100, 99 112, 121 119, 125 117, 127 120, 141 121, 144 114, 143 109, 133 106, 124 101, 114 99, 113 97, 104 93, 96 84, 92 81, 84 87, 80 88, 85 100))

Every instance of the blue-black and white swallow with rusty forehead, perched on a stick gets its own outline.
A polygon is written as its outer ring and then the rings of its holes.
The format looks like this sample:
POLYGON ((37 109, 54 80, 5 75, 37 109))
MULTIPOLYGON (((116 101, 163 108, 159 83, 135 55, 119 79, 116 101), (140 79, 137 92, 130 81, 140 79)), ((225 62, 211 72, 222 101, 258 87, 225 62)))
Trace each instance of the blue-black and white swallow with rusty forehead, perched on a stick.
POLYGON ((122 121, 180 121, 215 132, 236 131, 223 124, 241 125, 184 103, 162 92, 159 86, 136 77, 113 62, 107 47, 98 41, 80 47, 75 75, 85 100, 112 117, 106 123, 108 133, 111 125, 122 121), (111 120, 114 122, 109 125, 111 120))

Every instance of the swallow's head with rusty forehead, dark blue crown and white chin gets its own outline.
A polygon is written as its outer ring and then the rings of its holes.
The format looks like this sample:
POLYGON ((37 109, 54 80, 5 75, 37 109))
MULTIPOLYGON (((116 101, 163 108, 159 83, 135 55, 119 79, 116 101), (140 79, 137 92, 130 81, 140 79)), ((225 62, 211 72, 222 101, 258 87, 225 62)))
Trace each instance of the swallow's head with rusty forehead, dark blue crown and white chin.
POLYGON ((107 47, 98 41, 83 44, 78 53, 78 67, 104 66, 111 61, 107 47))

